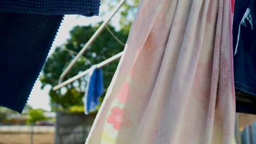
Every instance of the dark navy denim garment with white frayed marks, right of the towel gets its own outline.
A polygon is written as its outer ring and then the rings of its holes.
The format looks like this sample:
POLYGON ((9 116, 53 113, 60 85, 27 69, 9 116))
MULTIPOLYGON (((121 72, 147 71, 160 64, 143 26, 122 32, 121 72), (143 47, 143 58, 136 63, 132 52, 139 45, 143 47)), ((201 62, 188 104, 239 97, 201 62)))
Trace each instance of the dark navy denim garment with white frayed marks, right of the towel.
POLYGON ((236 0, 233 21, 236 112, 256 114, 256 21, 254 0, 236 0))

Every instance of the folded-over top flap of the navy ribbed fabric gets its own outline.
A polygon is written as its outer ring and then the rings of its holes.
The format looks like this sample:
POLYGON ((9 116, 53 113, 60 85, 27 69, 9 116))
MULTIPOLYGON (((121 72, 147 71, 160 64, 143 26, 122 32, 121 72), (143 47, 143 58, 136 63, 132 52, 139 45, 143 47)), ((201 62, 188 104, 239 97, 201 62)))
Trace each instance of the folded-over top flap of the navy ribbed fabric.
POLYGON ((1 11, 43 15, 98 14, 100 0, 15 0, 0 1, 1 11))

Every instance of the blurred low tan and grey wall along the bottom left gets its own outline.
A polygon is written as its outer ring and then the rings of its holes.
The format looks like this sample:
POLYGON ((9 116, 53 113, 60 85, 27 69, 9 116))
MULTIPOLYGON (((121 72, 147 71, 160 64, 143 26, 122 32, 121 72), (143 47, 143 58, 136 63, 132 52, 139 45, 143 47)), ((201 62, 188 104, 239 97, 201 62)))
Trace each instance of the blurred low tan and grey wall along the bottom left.
MULTIPOLYGON (((33 127, 33 144, 84 144, 95 116, 56 112, 55 127, 33 127)), ((0 144, 30 144, 30 140, 30 126, 0 126, 0 144)))

